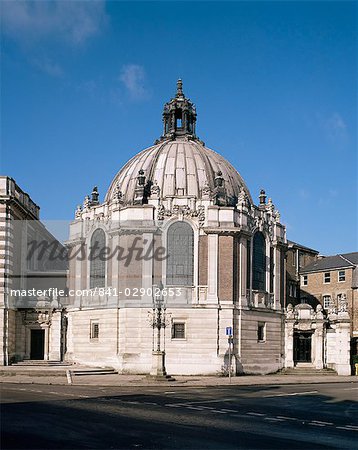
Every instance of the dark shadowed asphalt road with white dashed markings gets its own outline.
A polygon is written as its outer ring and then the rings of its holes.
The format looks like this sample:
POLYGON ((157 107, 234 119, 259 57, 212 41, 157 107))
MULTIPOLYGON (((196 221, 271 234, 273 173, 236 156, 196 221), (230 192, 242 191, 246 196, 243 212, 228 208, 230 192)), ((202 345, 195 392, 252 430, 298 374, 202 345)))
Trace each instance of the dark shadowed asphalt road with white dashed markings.
POLYGON ((356 449, 358 384, 3 384, 3 449, 356 449))

